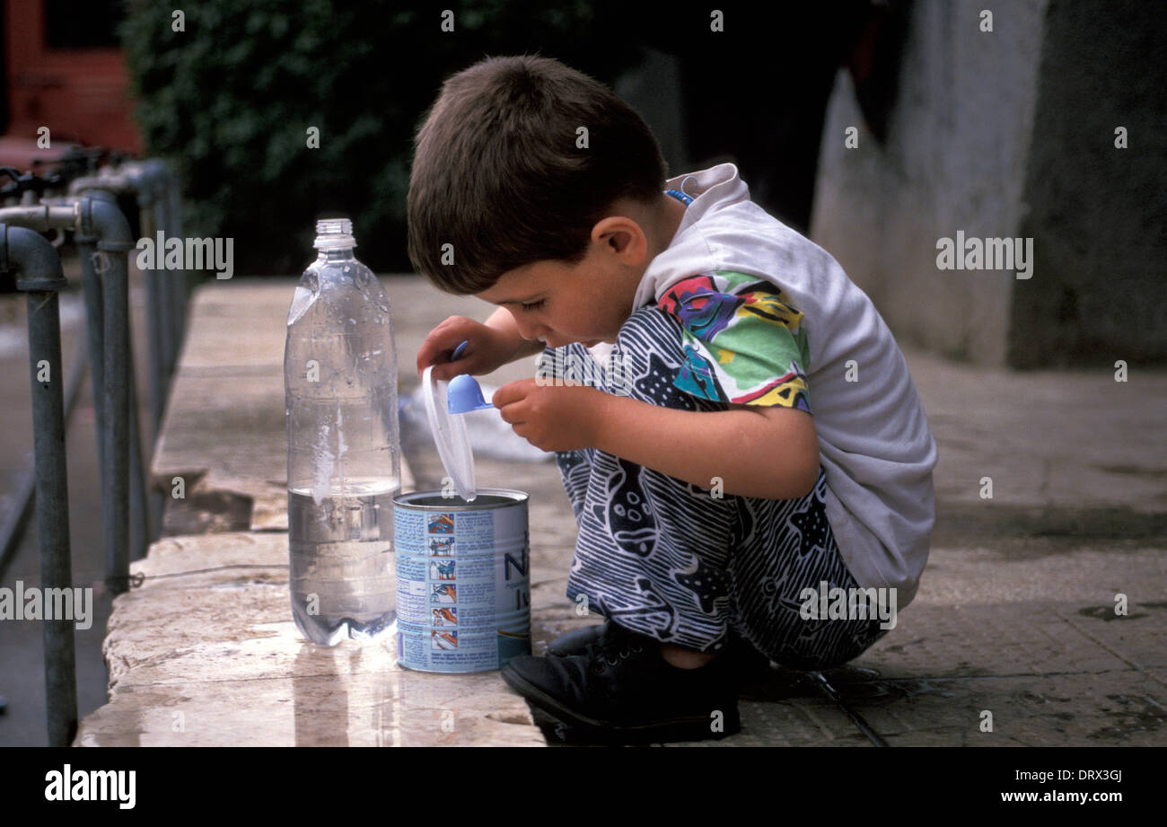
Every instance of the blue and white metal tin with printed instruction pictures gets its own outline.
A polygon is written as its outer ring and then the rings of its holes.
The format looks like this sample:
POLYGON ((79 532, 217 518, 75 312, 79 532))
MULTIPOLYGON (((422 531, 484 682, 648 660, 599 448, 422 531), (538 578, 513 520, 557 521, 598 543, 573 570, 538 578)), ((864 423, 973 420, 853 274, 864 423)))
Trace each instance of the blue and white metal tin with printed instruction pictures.
POLYGON ((527 495, 482 488, 393 498, 397 660, 421 672, 487 672, 531 654, 527 495))

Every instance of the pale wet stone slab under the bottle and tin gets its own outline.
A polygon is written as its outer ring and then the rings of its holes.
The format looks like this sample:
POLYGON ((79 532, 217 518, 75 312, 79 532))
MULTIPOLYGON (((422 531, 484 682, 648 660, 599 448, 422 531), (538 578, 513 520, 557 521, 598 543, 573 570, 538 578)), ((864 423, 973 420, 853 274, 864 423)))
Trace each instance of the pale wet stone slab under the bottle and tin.
POLYGON ((497 672, 407 672, 393 641, 303 642, 284 534, 172 537, 133 571, 105 639, 110 702, 75 745, 544 745, 497 672))

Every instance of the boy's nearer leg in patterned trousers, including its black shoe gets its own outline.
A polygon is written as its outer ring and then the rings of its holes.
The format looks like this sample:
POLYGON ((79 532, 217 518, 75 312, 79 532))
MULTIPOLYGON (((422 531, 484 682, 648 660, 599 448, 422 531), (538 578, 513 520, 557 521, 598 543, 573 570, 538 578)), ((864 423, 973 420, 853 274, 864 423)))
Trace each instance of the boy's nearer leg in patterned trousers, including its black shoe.
MULTIPOLYGON (((568 363, 592 360, 579 346, 565 355, 568 363)), ((700 410, 700 401, 672 388, 684 350, 679 326, 661 311, 635 313, 615 355, 620 376, 599 377, 601 388, 610 381, 633 398, 700 410)), ((736 675, 727 659, 676 663, 663 649, 712 655, 725 648, 733 506, 595 450, 585 486, 582 473, 575 477, 581 458, 560 459, 573 506, 573 492, 582 492, 567 596, 576 605, 586 598, 584 605, 613 623, 586 654, 516 658, 502 677, 559 721, 603 737, 689 741, 738 731, 736 675)))

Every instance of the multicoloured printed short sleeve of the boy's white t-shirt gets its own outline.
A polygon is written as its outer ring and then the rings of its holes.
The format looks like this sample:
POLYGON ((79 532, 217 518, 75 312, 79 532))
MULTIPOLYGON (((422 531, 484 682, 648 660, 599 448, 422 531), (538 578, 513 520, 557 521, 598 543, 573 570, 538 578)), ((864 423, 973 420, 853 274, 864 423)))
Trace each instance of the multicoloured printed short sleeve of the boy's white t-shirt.
POLYGON ((682 325, 678 389, 704 399, 811 412, 802 313, 781 287, 719 270, 673 283, 657 306, 682 325))

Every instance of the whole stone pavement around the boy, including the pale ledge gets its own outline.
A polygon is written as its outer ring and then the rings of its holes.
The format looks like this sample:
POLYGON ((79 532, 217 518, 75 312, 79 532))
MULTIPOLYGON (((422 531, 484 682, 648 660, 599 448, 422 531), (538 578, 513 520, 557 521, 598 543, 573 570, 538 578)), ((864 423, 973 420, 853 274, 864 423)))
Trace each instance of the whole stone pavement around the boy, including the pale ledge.
MULTIPOLYGON (((110 703, 78 744, 541 744, 497 673, 397 668, 391 647, 302 644, 289 618, 279 364, 293 282, 204 287, 193 308, 155 482, 172 508, 140 589, 114 604, 110 703), (233 371, 233 373, 232 373, 233 371), (228 382, 224 385, 224 382, 228 382), (188 482, 189 486, 189 482, 188 482), (242 567, 166 578, 196 569, 242 567), (158 578, 158 579, 154 579, 158 578), (450 725, 453 722, 453 725, 450 725)), ((386 279, 401 392, 425 333, 475 299, 386 279)), ((742 731, 707 745, 1167 744, 1167 374, 908 363, 941 459, 937 527, 897 626, 839 669, 774 669, 742 694, 742 731), (984 499, 984 478, 993 496, 984 499), (1128 613, 1116 616, 1116 596, 1128 613), (991 714, 992 731, 983 731, 991 714)), ((494 384, 530 375, 518 363, 494 384)), ((436 454, 414 444, 417 488, 436 454)), ((476 458, 480 486, 531 492, 536 653, 587 623, 565 597, 574 520, 552 463, 476 458)), ((706 744, 703 744, 706 745, 706 744)))

